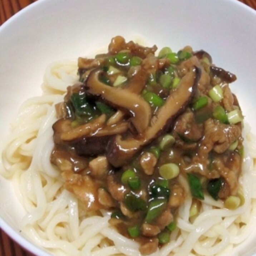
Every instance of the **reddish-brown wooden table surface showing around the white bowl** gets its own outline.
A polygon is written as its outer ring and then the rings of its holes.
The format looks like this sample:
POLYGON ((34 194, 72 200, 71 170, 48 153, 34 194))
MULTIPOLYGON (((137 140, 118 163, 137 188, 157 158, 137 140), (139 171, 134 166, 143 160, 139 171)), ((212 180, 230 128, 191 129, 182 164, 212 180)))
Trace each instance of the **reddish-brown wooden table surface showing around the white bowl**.
MULTIPOLYGON (((0 24, 36 0, 0 0, 0 24)), ((256 0, 240 0, 256 10, 256 0)), ((34 256, 0 231, 0 256, 34 256)))

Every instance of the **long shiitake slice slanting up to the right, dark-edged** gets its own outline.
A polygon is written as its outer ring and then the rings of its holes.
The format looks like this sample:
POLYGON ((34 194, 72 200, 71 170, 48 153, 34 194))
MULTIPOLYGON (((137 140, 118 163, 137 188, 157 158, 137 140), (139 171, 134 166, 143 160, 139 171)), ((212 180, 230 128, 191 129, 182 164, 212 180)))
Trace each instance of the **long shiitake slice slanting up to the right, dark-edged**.
POLYGON ((114 167, 122 166, 128 163, 142 146, 149 144, 163 132, 172 129, 176 117, 191 102, 200 76, 201 70, 195 67, 181 79, 179 87, 169 95, 166 103, 159 108, 152 118, 151 124, 141 134, 140 138, 136 139, 133 136, 129 136, 123 139, 121 135, 113 137, 107 147, 108 161, 114 167))

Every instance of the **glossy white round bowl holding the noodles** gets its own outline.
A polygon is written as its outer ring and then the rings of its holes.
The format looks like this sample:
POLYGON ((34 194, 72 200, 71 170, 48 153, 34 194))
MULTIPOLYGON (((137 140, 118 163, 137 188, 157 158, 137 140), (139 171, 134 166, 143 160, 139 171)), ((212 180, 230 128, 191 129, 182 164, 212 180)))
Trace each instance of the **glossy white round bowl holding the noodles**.
MULTIPOLYGON (((255 24, 256 11, 236 0, 37 1, 0 28, 0 141, 10 133, 20 104, 40 95, 49 63, 92 55, 115 35, 141 36, 159 48, 191 45, 208 51, 216 65, 237 75, 231 89, 256 132, 255 24)), ((24 210, 2 177, 0 194, 1 228, 36 255, 49 255, 19 232, 24 210)), ((252 255, 255 242, 248 241, 241 255, 252 255)))

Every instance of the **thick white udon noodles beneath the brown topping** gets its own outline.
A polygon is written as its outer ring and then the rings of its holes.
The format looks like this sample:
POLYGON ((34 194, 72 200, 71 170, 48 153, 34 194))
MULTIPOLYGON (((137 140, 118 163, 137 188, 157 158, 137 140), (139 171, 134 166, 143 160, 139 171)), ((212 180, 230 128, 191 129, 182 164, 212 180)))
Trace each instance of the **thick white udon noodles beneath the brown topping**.
MULTIPOLYGON (((52 125, 55 104, 63 101, 67 87, 78 81, 77 61, 51 64, 45 72, 44 94, 26 100, 11 122, 11 135, 3 151, 4 170, 27 214, 22 231, 53 255, 140 255, 139 244, 109 224, 107 210, 87 212, 75 195, 63 188, 64 180, 50 163, 54 147, 52 125)), ((256 226, 256 191, 252 186, 256 138, 245 124, 244 157, 239 185, 243 204, 225 208, 222 200, 205 195, 201 212, 189 216, 193 200, 186 179, 179 182, 186 191, 177 213, 177 227, 170 242, 152 255, 238 255, 256 226)))

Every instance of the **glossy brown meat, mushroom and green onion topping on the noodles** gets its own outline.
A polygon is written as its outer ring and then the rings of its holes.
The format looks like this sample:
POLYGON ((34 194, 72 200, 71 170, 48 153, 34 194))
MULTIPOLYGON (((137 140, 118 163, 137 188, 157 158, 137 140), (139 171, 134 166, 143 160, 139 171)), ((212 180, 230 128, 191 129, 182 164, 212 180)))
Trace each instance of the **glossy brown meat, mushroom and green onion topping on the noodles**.
POLYGON ((79 58, 79 83, 56 105, 51 155, 65 188, 88 211, 112 211, 110 223, 143 255, 170 241, 184 182, 191 222, 205 195, 230 209, 243 201, 235 75, 203 50, 156 50, 116 36, 108 53, 79 58))

